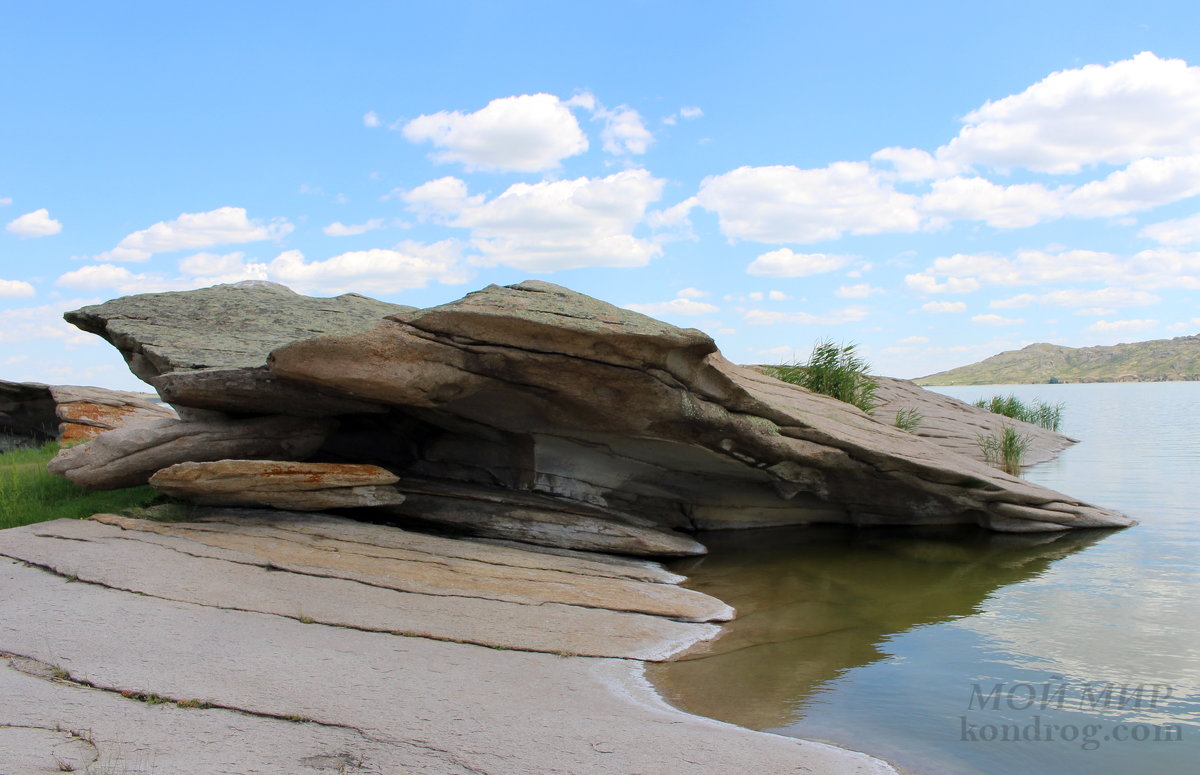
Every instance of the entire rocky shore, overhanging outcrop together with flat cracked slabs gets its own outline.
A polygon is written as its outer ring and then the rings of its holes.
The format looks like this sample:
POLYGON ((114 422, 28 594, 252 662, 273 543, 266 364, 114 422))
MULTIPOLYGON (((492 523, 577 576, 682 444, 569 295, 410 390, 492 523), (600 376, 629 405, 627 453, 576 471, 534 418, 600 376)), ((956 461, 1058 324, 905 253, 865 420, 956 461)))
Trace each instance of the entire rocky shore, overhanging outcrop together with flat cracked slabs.
MULTIPOLYGON (((736 612, 650 558, 710 528, 1132 523, 972 456, 990 413, 886 380, 872 419, 548 283, 431 310, 239 283, 67 319, 178 416, 52 470, 191 506, 0 533, 6 775, 892 773, 658 699, 643 666, 736 612)), ((0 420, 61 419, 40 401, 0 420)))

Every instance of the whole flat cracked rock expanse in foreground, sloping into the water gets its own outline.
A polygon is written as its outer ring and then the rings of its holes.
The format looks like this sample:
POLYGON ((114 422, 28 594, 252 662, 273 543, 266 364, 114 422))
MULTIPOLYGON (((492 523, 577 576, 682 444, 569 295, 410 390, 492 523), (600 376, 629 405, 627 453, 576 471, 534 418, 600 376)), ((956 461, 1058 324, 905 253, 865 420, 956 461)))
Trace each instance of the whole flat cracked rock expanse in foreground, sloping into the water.
POLYGON ((343 522, 0 533, 0 773, 893 771, 662 704, 641 660, 731 612, 660 566, 343 522))

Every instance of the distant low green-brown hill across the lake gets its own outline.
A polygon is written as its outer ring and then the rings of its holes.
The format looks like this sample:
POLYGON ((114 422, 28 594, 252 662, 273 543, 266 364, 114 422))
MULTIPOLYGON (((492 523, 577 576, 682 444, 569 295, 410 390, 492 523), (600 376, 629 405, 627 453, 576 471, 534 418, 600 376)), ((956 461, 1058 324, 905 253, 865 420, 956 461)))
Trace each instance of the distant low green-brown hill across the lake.
POLYGON ((918 385, 1200 380, 1200 335, 1111 347, 1030 344, 916 379, 918 385))

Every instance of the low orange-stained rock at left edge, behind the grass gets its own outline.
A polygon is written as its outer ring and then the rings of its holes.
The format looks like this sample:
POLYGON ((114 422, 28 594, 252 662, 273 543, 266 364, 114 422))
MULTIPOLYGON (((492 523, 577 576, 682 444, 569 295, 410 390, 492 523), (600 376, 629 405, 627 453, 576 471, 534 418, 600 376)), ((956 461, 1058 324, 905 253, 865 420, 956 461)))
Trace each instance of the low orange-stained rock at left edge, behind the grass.
POLYGON ((142 393, 0 380, 0 433, 35 443, 86 441, 104 431, 174 416, 142 393))

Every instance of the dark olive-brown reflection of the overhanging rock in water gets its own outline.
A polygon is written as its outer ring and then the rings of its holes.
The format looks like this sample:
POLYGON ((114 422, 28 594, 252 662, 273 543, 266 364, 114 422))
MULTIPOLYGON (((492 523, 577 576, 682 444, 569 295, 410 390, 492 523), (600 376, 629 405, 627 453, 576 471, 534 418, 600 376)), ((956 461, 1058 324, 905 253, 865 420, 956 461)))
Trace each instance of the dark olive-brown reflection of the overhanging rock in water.
POLYGON ((979 611, 1106 530, 996 534, 964 528, 787 528, 710 533, 710 554, 672 565, 738 618, 715 641, 648 666, 676 707, 752 729, 787 726, 823 683, 884 655, 916 626, 979 611))

